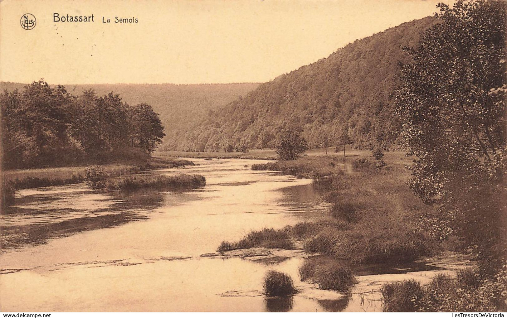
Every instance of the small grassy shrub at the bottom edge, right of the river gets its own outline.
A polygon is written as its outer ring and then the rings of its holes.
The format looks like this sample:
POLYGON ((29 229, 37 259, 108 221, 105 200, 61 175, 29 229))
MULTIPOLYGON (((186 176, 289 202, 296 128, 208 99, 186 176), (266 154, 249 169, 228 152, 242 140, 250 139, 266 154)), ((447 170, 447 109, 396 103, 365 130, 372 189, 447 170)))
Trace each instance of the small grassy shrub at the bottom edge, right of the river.
POLYGON ((385 312, 415 312, 423 295, 419 282, 413 279, 384 284, 380 292, 385 312))

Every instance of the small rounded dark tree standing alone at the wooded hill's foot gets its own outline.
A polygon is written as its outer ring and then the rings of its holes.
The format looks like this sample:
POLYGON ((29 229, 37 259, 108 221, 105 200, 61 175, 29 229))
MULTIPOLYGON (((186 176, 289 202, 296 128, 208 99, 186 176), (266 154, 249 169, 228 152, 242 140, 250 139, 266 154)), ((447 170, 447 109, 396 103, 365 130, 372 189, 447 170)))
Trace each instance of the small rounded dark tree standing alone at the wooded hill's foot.
POLYGON ((276 154, 280 160, 296 160, 307 149, 306 140, 301 137, 301 130, 296 127, 284 128, 276 142, 276 154))

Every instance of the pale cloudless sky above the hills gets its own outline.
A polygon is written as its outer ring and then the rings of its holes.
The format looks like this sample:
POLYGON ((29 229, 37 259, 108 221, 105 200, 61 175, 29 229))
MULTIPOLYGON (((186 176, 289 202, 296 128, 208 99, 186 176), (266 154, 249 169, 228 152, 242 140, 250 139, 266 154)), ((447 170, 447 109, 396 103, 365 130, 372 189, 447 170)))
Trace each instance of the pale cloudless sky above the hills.
POLYGON ((0 81, 267 82, 355 39, 432 15, 438 2, 3 0, 0 81), (20 23, 26 13, 37 19, 30 30, 20 23), (93 14, 94 22, 54 22, 54 13, 93 14))

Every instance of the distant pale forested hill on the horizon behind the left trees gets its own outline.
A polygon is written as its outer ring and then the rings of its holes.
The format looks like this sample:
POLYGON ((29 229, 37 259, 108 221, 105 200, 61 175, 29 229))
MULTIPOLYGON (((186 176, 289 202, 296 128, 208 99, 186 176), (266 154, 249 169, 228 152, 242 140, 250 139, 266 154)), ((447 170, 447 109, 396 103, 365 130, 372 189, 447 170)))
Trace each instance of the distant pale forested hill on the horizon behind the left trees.
MULTIPOLYGON (((39 78, 34 78, 38 80, 39 78)), ((160 115, 165 127, 164 144, 173 145, 174 141, 183 138, 189 127, 195 126, 201 118, 208 115, 209 109, 217 109, 239 96, 244 96, 256 89, 257 83, 235 84, 96 84, 66 85, 69 93, 79 95, 93 89, 98 96, 110 92, 119 94, 123 101, 130 105, 147 103, 160 115)), ((2 82, 0 89, 11 92, 22 90, 26 84, 2 82)))

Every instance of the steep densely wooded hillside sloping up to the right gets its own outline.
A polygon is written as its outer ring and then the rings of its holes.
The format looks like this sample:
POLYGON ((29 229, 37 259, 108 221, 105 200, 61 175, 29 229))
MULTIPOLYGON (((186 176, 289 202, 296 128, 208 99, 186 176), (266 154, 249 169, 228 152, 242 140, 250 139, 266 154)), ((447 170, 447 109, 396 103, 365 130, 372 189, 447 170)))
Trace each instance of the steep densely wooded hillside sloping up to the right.
POLYGON ((416 47, 427 17, 356 40, 325 59, 278 76, 222 109, 211 111, 177 149, 211 150, 246 143, 273 147, 286 123, 304 129, 311 147, 332 145, 343 128, 357 147, 389 146, 399 123, 393 114, 400 84, 399 62, 409 62, 404 47, 416 47))

